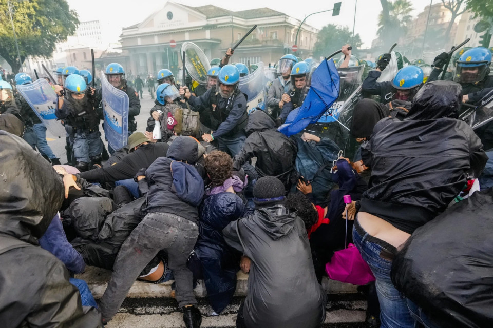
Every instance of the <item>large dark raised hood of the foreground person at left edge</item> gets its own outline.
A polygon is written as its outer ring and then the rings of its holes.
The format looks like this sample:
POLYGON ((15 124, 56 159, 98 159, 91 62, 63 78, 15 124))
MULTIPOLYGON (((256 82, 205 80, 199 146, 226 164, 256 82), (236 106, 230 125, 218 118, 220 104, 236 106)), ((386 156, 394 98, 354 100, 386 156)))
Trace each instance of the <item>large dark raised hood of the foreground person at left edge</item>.
POLYGON ((60 209, 60 176, 26 141, 0 131, 0 232, 37 244, 60 209))

